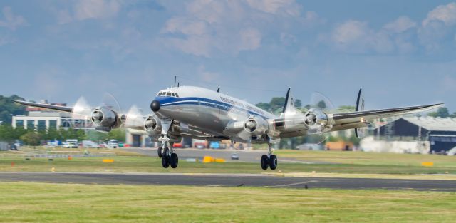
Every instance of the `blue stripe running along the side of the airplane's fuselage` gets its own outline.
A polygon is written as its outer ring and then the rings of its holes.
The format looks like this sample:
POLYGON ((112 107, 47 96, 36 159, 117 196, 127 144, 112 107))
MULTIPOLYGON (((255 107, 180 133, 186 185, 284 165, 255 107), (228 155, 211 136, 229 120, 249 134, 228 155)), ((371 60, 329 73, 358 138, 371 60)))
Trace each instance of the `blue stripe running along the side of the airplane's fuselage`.
POLYGON ((155 100, 158 100, 160 102, 160 106, 162 106, 162 107, 167 107, 167 106, 172 106, 172 105, 201 105, 201 106, 207 106, 207 107, 211 107, 211 108, 219 108, 219 109, 225 110, 227 112, 234 107, 239 110, 247 111, 247 113, 249 113, 249 115, 259 115, 259 116, 261 116, 261 118, 268 119, 265 115, 261 115, 252 110, 248 110, 247 108, 241 108, 237 105, 224 103, 224 102, 218 101, 218 100, 212 100, 209 98, 156 97, 155 100))

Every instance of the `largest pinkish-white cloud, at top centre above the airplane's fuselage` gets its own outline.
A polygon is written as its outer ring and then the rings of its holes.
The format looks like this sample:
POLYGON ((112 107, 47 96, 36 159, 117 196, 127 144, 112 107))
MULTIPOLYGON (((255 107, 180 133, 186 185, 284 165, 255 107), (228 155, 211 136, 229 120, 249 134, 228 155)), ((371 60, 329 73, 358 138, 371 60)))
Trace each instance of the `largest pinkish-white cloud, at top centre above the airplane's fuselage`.
POLYGON ((318 19, 314 12, 300 16, 300 8, 293 0, 195 0, 185 6, 184 14, 165 23, 162 41, 195 56, 254 51, 261 47, 265 32, 280 35, 281 25, 288 21, 318 19))

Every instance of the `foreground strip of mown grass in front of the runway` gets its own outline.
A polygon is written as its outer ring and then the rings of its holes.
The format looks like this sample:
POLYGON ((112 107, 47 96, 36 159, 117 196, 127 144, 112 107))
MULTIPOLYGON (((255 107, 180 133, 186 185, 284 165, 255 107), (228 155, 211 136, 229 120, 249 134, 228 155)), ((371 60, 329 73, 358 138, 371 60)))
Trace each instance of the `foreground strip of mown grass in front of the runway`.
POLYGON ((0 222, 454 222, 456 194, 0 182, 0 222))

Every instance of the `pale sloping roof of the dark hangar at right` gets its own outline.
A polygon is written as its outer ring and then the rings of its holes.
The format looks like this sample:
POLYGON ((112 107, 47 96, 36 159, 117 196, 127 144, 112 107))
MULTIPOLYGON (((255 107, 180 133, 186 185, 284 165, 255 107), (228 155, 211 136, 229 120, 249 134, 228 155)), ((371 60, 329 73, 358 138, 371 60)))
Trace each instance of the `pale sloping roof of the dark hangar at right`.
POLYGON ((456 131, 456 118, 403 117, 403 119, 430 131, 456 131))

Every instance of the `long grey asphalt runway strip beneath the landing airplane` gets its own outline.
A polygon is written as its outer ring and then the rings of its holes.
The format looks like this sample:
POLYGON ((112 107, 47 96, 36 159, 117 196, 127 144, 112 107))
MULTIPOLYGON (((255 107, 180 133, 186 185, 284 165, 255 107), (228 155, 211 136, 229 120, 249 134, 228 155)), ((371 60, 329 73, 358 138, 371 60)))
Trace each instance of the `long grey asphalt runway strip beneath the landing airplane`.
POLYGON ((452 180, 274 177, 237 174, 150 174, 76 172, 0 172, 1 182, 53 182, 102 185, 192 185, 211 187, 282 187, 332 189, 427 190, 456 192, 452 180))

